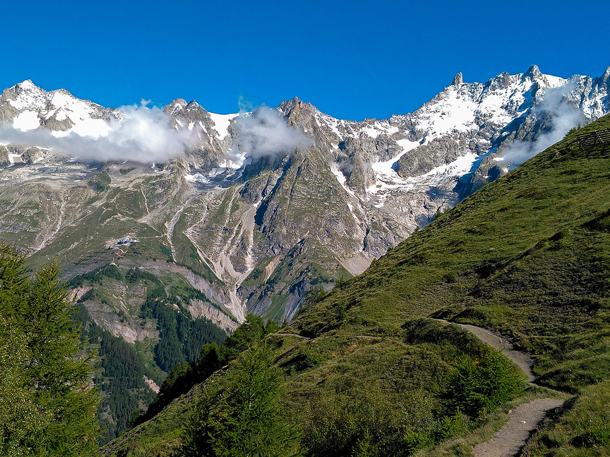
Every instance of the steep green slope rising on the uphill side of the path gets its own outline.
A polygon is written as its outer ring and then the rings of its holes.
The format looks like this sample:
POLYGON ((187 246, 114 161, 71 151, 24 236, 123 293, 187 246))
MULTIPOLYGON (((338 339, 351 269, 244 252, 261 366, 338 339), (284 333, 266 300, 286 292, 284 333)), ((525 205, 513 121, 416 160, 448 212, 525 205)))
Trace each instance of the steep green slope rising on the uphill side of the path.
MULTIPOLYGON (((579 133, 610 126, 608 116, 579 133)), ((575 134, 486 186, 336 289, 291 325, 303 335, 387 333, 416 317, 493 328, 538 358, 549 386, 576 391, 610 372, 562 377, 570 361, 605 365, 610 280, 610 145, 575 134), (579 350, 580 349, 580 350, 579 350), (601 358, 601 359, 600 359, 601 358), (580 376, 580 377, 579 377, 580 376)))

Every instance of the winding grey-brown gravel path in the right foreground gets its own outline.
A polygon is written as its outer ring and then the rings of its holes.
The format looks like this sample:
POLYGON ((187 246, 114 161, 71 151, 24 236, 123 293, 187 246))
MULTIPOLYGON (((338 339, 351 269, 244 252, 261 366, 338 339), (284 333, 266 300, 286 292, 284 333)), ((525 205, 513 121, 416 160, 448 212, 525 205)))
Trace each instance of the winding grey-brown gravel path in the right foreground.
MULTIPOLYGON (((526 352, 514 349, 514 346, 506 339, 475 325, 458 324, 443 319, 435 320, 459 325, 464 330, 470 331, 476 338, 489 344, 494 349, 500 350, 519 366, 525 372, 530 383, 533 383, 536 379, 532 371, 534 361, 531 356, 526 352)), ((517 406, 514 411, 509 413, 510 419, 508 422, 493 435, 492 439, 475 446, 473 449, 475 457, 514 457, 519 455, 542 419, 547 416, 551 409, 558 408, 563 403, 564 400, 547 398, 531 400, 531 402, 517 406)))

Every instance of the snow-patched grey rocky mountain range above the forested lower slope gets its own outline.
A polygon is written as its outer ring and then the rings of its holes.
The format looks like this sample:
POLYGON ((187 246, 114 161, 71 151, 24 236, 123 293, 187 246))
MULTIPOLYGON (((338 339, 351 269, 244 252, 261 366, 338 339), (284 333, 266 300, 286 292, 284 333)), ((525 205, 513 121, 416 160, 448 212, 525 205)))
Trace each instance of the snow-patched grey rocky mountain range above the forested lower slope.
MULTIPOLYGON (((248 311, 290 319, 312 285, 329 289, 364 271, 439 209, 506 172, 508 145, 557 130, 561 113, 551 108, 572 107, 583 122, 608 113, 609 83, 610 68, 562 79, 532 66, 486 83, 458 74, 414 113, 361 122, 295 98, 276 110, 311 142, 273 155, 232 150, 238 115, 176 99, 164 112, 190 143, 162 165, 0 146, 0 232, 35 262, 59 258, 68 274, 114 261, 181 275, 237 321, 248 311), (111 243, 129 234, 134 249, 111 243)), ((123 112, 26 81, 2 93, 0 119, 20 132, 104 138, 123 112)), ((195 313, 204 308, 193 303, 195 313)))

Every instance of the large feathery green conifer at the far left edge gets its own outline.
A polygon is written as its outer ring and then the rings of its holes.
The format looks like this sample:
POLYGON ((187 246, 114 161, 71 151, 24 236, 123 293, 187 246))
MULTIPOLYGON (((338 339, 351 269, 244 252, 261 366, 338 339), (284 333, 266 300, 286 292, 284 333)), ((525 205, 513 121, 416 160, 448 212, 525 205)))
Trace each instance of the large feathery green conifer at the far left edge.
MULTIPOLYGON (((85 355, 57 265, 42 267, 34 278, 26 272, 23 255, 14 247, 1 246, 0 314, 10 338, 0 355, 7 362, 2 364, 3 371, 12 373, 12 378, 3 386, 0 402, 10 401, 9 392, 20 392, 28 410, 39 415, 19 452, 48 457, 96 455, 99 395, 91 388, 93 355, 85 355), (12 357, 9 351, 18 356, 12 357), (18 377, 17 372, 21 373, 18 377)), ((15 436, 9 424, 0 426, 3 437, 15 436)))

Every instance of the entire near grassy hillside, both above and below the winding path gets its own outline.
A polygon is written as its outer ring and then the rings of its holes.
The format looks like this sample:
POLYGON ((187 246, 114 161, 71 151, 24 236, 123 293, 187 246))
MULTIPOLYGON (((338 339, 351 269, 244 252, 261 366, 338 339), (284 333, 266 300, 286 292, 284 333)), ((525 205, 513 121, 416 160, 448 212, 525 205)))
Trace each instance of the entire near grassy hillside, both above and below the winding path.
MULTIPOLYGON (((578 133, 608 127, 605 116, 578 133)), ((468 455, 500 427, 499 405, 550 394, 515 389, 469 409, 456 375, 482 370, 478 377, 495 382, 510 374, 492 369, 492 355, 468 333, 427 319, 443 317, 501 333, 534 355, 539 384, 573 395, 530 442, 529 455, 608 455, 609 159, 610 145, 583 151, 571 133, 281 330, 300 336, 268 337, 307 454, 352 455, 368 439, 385 455, 468 455)), ((231 369, 214 380, 227 381, 231 369)), ((107 454, 171 455, 204 389, 112 442, 107 454)))

